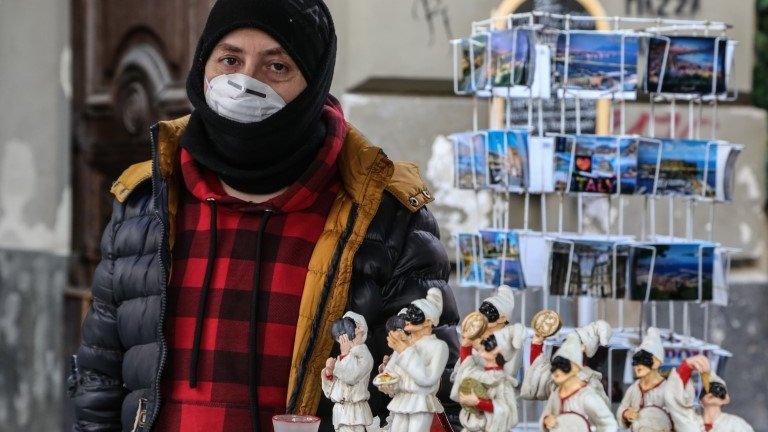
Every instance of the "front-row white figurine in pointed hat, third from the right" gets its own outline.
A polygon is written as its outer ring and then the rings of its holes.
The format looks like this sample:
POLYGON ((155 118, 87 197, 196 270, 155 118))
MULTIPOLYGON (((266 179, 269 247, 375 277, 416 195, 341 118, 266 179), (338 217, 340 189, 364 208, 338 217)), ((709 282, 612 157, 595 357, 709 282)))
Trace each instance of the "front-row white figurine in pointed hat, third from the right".
POLYGON ((575 333, 569 334, 552 358, 552 381, 557 388, 549 395, 542 412, 542 431, 618 430, 616 419, 605 399, 580 376, 584 367, 583 359, 581 341, 575 333))

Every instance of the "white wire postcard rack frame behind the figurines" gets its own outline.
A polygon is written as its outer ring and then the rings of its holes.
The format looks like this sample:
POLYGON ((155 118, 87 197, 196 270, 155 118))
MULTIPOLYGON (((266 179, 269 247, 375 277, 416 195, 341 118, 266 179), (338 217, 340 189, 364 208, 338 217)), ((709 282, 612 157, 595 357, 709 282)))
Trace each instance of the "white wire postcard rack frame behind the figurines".
MULTIPOLYGON (((454 53, 454 90, 458 95, 473 96, 473 131, 479 133, 481 131, 481 120, 479 118, 479 107, 481 103, 488 103, 491 116, 494 113, 497 117, 501 118, 496 126, 500 130, 511 130, 514 127, 521 128, 529 131, 532 136, 538 138, 545 137, 566 137, 571 142, 571 167, 568 173, 567 187, 564 190, 555 191, 553 193, 541 193, 540 194, 540 208, 541 208, 541 231, 534 232, 530 229, 530 199, 532 193, 526 188, 519 190, 513 190, 511 188, 496 188, 490 189, 490 193, 493 200, 493 212, 492 212, 492 226, 490 229, 498 229, 503 231, 510 231, 509 220, 510 213, 512 211, 512 195, 519 195, 523 200, 523 226, 516 230, 521 235, 541 235, 549 243, 549 264, 546 271, 544 271, 544 282, 540 287, 528 287, 533 288, 531 291, 540 289, 542 296, 542 303, 544 307, 549 307, 550 300, 554 300, 555 308, 557 311, 561 309, 562 296, 550 296, 550 270, 552 266, 552 243, 560 242, 568 244, 569 242, 569 256, 566 270, 565 286, 560 289, 560 292, 566 294, 569 293, 571 285, 571 270, 573 264, 573 254, 575 250, 575 242, 573 238, 578 238, 584 234, 584 206, 585 199, 591 200, 605 200, 605 232, 601 233, 602 239, 607 241, 616 241, 614 246, 611 260, 612 266, 612 292, 613 298, 617 305, 618 315, 618 333, 634 334, 637 335, 642 331, 642 328, 646 325, 658 326, 658 302, 652 301, 651 286, 654 276, 654 266, 657 261, 657 251, 653 242, 663 242, 669 244, 676 243, 691 243, 695 240, 695 214, 699 206, 708 207, 708 223, 706 224, 706 242, 699 246, 698 262, 699 262, 699 275, 698 275, 698 301, 684 301, 683 305, 683 317, 682 317, 682 334, 675 333, 675 305, 673 301, 669 301, 667 323, 668 340, 682 341, 691 346, 702 347, 702 350, 714 350, 719 349, 715 345, 707 343, 709 339, 709 315, 710 315, 710 302, 702 301, 703 293, 703 248, 714 247, 718 253, 721 253, 723 260, 723 272, 721 285, 717 289, 725 289, 727 291, 728 272, 730 270, 731 256, 733 253, 738 252, 735 249, 723 247, 714 243, 714 231, 715 231, 715 214, 716 206, 721 201, 716 197, 711 196, 708 191, 708 179, 709 165, 710 165, 710 149, 714 148, 715 154, 717 154, 717 148, 719 146, 731 146, 738 149, 739 146, 719 141, 717 138, 717 121, 718 118, 718 105, 721 102, 732 101, 736 98, 735 91, 730 89, 730 77, 732 76, 732 69, 735 61, 730 54, 733 52, 736 42, 730 41, 727 38, 726 32, 731 26, 717 21, 695 21, 695 20, 679 20, 679 19, 662 19, 662 18, 634 18, 634 17, 590 17, 590 16, 577 16, 577 15, 559 15, 550 14, 544 12, 529 12, 529 13, 516 13, 506 16, 493 17, 482 21, 476 21, 472 23, 471 33, 468 38, 457 39, 452 42, 454 53), (510 58, 509 67, 509 88, 494 88, 493 75, 488 72, 490 70, 490 62, 492 59, 493 49, 493 34, 494 32, 507 31, 512 35, 512 48, 511 52, 506 53, 510 58), (591 93, 575 90, 570 86, 570 62, 571 62, 571 38, 575 34, 605 34, 614 35, 620 41, 620 64, 618 67, 618 85, 615 85, 609 90, 598 90, 591 93), (524 36, 523 36, 524 35, 524 36), (664 78, 667 75, 667 70, 670 65, 670 47, 674 37, 677 36, 704 36, 713 38, 713 50, 712 53, 714 64, 712 69, 712 82, 709 91, 698 93, 675 93, 665 92, 664 78), (520 80, 520 76, 516 75, 520 68, 516 67, 518 60, 518 38, 526 37, 530 39, 527 45, 528 59, 526 61, 530 64, 534 64, 533 76, 526 77, 526 80, 520 80), (637 47, 638 63, 635 65, 626 64, 627 58, 627 46, 629 43, 635 44, 637 47), (650 65, 647 64, 648 50, 651 44, 655 44, 658 49, 659 46, 663 47, 663 56, 660 68, 657 70, 658 81, 655 88, 647 88, 645 82, 648 81, 646 74, 649 72, 650 65), (549 51, 549 58, 547 64, 540 65, 538 62, 542 61, 539 55, 539 48, 545 46, 549 51), (723 47, 726 47, 723 52, 723 47), (560 56, 558 56, 558 50, 560 56), (465 68, 461 68, 461 60, 466 60, 466 54, 468 51, 469 61, 464 64, 465 68), (730 56, 730 57, 729 57, 730 56), (477 64, 483 65, 483 69, 476 70, 477 64), (721 65, 724 65, 725 70, 720 70, 721 65), (540 82, 537 81, 536 71, 542 67, 549 73, 550 88, 547 91, 542 91, 539 87, 540 82), (628 68, 637 68, 635 73, 636 83, 634 88, 627 91, 627 70, 628 68), (469 76, 466 75, 466 68, 469 69, 469 76), (488 69, 485 69, 488 68, 488 69), (487 74, 483 77, 477 76, 478 72, 487 74), (553 73, 554 72, 554 73, 553 73), (720 78, 722 76, 722 78, 720 78), (641 85, 641 77, 643 85, 641 85), (469 81, 467 82, 467 78, 469 81), (481 86, 476 86, 476 83, 480 83, 481 86), (463 84, 463 86, 461 85, 463 84), (467 86, 469 84, 469 86, 467 86), (514 86, 514 87, 513 87, 514 86), (585 94, 587 97, 585 97, 585 94), (635 95, 637 97, 635 98, 635 95), (649 103, 649 118, 650 121, 647 126, 647 130, 643 137, 627 134, 627 113, 626 102, 627 100, 640 100, 641 97, 647 97, 643 99, 649 103), (544 124, 544 101, 547 99, 555 99, 559 101, 560 108, 560 127, 559 130, 545 130, 544 124), (512 124, 512 101, 523 100, 527 108, 527 124, 513 125, 512 124), (621 138, 642 139, 650 143, 655 143, 658 146, 658 159, 656 161, 656 171, 653 190, 650 193, 644 193, 638 198, 642 200, 642 223, 640 226, 640 232, 635 236, 627 236, 625 233, 625 200, 631 195, 623 194, 621 190, 621 168, 620 164, 616 164, 616 189, 613 193, 585 193, 571 191, 571 177, 574 173, 575 167, 575 152, 576 152, 576 138, 583 136, 582 134, 582 103, 584 100, 597 101, 597 103, 607 104, 609 121, 607 122, 607 128, 604 129, 601 135, 615 136, 617 141, 621 138), (574 133, 567 133, 566 124, 566 111, 567 105, 570 103, 575 110, 575 130, 574 133), (682 110, 678 105, 687 104, 687 110, 682 110), (713 119, 710 130, 703 131, 703 118, 704 109, 708 107, 713 119), (656 128, 656 113, 660 110, 666 110, 669 113, 670 125, 669 125, 669 137, 657 136, 656 128), (687 114, 687 136, 677 136, 677 116, 682 112, 687 114), (618 115, 618 119, 615 116, 618 115), (535 133, 535 135, 534 135, 535 133), (705 157, 705 169, 704 179, 702 186, 698 193, 691 193, 687 195, 679 194, 658 194, 657 186, 659 183, 659 173, 662 164, 662 155, 664 152, 664 141, 666 139, 687 139, 687 140, 701 140, 707 141, 706 144, 706 157, 705 157), (547 210, 547 198, 548 196, 555 196, 557 199, 557 226, 556 229, 550 230, 548 226, 549 215, 547 210), (568 233, 564 229, 565 216, 564 208, 566 200, 575 199, 576 201, 576 229, 574 233, 568 233), (666 225, 667 229, 665 235, 660 235, 657 232, 657 203, 661 200, 665 200, 667 205, 666 213, 666 225), (683 205, 685 208, 685 232, 675 232, 675 206, 683 205), (617 215, 617 223, 614 226, 612 214, 617 215), (679 237, 676 236, 680 235, 679 237), (631 240, 626 240, 630 238, 631 240), (624 239, 619 241, 617 239, 624 239), (647 286, 645 291, 645 299, 643 300, 644 306, 641 308, 641 321, 637 327, 625 326, 624 313, 625 313, 625 299, 618 298, 617 293, 617 280, 618 275, 618 245, 627 247, 630 250, 645 251, 650 253, 649 268, 647 269, 647 286), (691 336, 690 326, 690 305, 691 303, 699 305, 703 310, 704 323, 702 329, 702 340, 694 339, 691 336), (650 315, 650 316, 647 316, 650 315), (703 348, 707 347, 707 348, 703 348)), ((528 70, 530 75, 530 69, 528 70)), ((491 129, 491 122, 488 124, 488 128, 491 129)), ((530 152, 529 152, 530 154, 530 152)), ((616 144, 616 160, 618 162, 621 157, 621 144, 616 144)), ((474 168, 473 168, 474 169, 474 168)), ((530 167, 529 167, 530 169, 530 167)), ((530 176, 530 171, 526 170, 526 175, 530 176)), ((476 188, 476 194, 479 193, 476 188)), ((484 227, 485 228, 485 227, 484 227)), ((457 242, 458 243, 458 242, 457 242)), ((457 246, 458 249, 458 246, 457 246)), ((478 250, 479 246, 478 246, 478 250)), ((504 251, 506 253, 506 251, 504 251)), ((633 252, 630 252, 633 253, 633 252)), ((459 254, 457 254, 459 255, 459 254)), ((457 257, 457 269, 461 268, 461 261, 464 257, 457 257)), ((506 258, 502 255, 502 258, 506 258)), ((503 261, 503 259, 502 259, 503 261)), ((474 265, 474 264, 473 264, 474 265)), ((719 264, 718 264, 719 265, 719 264)), ((629 263, 626 265, 626 271, 629 270, 629 263)), ((473 270, 474 271, 474 270, 473 270)), ((503 275, 502 265, 502 277, 503 275)), ((480 269, 482 272, 482 268, 480 269)), ((630 292, 629 283, 630 277, 625 274, 623 277, 627 286, 624 288, 624 292, 628 295, 630 292)), ((712 290, 716 289, 715 281, 711 283, 712 290)), ((480 302, 480 289, 475 291, 476 307, 480 302)), ((526 295, 524 291, 521 291, 520 299, 520 319, 526 324, 526 295)), ((579 298, 579 314, 584 313, 587 316, 596 318, 599 314, 597 301, 590 297, 579 298)), ((573 323, 576 325, 576 323, 573 323)), ((626 340, 616 341, 616 346, 624 346, 627 348, 629 344, 626 340)), ((613 345, 613 344, 612 344, 613 345)), ((611 380, 612 373, 612 354, 614 347, 612 346, 608 354, 608 375, 609 375, 609 394, 612 390, 611 386, 613 382, 611 380)), ((727 352, 722 352, 723 355, 730 355, 727 352)), ((523 423, 526 423, 527 417, 527 404, 523 404, 523 423)), ((527 430, 527 428, 526 428, 527 430)))

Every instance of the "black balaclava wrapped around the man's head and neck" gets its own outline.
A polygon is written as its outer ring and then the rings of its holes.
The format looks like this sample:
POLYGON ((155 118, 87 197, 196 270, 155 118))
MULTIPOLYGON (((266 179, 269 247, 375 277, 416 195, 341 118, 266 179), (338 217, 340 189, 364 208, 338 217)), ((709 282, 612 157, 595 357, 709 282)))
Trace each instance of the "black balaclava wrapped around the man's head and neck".
POLYGON ((306 171, 325 139, 321 118, 336 63, 336 32, 322 0, 218 0, 211 9, 187 77, 194 111, 181 146, 235 189, 272 193, 306 171), (214 112, 203 91, 205 64, 222 37, 257 28, 296 62, 307 88, 283 109, 255 123, 214 112))

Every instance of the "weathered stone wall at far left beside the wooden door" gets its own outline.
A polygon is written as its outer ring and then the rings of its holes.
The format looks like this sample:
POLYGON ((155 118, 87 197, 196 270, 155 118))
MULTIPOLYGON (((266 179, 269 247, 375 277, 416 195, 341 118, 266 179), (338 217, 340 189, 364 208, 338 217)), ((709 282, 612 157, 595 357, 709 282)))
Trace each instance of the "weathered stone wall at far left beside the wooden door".
POLYGON ((69 4, 0 0, 0 430, 60 430, 69 4))

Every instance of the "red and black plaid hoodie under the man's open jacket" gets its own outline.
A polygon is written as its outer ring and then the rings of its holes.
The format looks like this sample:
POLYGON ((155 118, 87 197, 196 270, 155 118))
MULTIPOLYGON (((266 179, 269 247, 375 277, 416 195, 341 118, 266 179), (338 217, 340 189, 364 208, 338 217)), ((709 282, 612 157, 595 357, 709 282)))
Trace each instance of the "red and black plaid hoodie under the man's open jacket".
POLYGON ((327 135, 307 172, 279 196, 228 196, 216 175, 181 149, 158 431, 271 431, 286 408, 299 304, 309 260, 341 189, 336 158, 346 136, 333 98, 327 135))

